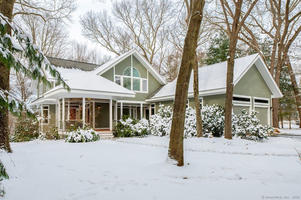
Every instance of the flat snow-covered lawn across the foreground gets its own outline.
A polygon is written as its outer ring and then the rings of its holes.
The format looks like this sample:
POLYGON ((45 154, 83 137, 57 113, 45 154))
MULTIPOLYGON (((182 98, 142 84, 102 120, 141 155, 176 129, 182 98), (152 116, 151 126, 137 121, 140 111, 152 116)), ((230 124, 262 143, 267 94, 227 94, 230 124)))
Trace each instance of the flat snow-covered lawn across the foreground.
POLYGON ((1 153, 10 176, 2 181, 7 192, 3 199, 301 196, 301 165, 293 148, 301 150, 301 142, 293 138, 270 138, 264 143, 186 139, 183 167, 164 162, 168 143, 169 138, 156 136, 11 143, 14 152, 1 153))

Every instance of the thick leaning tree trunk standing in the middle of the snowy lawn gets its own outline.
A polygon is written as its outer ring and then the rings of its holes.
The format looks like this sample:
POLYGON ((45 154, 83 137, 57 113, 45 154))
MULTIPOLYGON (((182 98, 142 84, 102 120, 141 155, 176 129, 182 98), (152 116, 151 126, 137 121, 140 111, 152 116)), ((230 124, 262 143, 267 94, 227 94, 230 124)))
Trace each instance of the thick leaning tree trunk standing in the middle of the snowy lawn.
POLYGON ((193 2, 192 14, 184 40, 181 66, 175 89, 175 102, 170 131, 169 149, 166 160, 177 164, 178 166, 184 165, 183 134, 187 92, 191 71, 195 62, 194 57, 196 54, 200 25, 203 18, 204 5, 204 0, 194 0, 193 2))

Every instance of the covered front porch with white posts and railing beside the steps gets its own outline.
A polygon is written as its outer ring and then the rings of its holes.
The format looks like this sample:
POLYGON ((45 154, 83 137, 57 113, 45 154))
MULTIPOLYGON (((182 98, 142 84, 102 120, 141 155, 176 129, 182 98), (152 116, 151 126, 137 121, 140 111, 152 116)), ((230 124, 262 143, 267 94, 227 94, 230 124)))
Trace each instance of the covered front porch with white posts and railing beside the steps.
POLYGON ((114 133, 117 124, 117 104, 113 99, 61 98, 57 106, 57 127, 63 135, 85 123, 99 133, 114 133))

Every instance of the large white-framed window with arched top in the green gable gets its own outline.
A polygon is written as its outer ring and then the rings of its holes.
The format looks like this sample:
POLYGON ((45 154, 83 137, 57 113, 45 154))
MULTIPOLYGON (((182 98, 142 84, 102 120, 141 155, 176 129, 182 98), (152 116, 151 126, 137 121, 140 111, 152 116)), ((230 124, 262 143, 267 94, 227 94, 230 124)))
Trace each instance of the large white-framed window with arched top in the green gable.
POLYGON ((122 76, 115 76, 115 83, 126 89, 138 92, 147 92, 147 79, 140 77, 139 71, 134 67, 128 67, 122 76))

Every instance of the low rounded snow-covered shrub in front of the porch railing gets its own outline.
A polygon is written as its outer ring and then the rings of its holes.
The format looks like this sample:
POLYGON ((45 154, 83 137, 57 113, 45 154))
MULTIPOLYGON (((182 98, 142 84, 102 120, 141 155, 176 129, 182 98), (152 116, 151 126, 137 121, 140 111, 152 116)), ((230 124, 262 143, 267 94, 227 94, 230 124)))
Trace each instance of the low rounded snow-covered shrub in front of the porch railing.
POLYGON ((91 127, 83 126, 66 134, 65 142, 94 142, 100 140, 99 134, 91 127))

